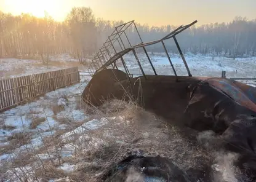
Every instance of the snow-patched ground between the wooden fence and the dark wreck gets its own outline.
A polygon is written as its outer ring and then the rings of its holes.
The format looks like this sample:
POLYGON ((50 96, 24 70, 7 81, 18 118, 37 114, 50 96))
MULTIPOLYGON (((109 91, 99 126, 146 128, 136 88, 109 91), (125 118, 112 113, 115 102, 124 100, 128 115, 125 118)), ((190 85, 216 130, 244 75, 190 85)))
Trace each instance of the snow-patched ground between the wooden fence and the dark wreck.
MULTIPOLYGON (((8 171, 4 171, 7 164, 11 165, 16 159, 20 159, 20 156, 31 152, 44 151, 46 138, 88 121, 89 117, 80 107, 79 93, 86 87, 89 79, 89 76, 82 76, 79 84, 46 93, 39 100, 0 114, 0 179, 4 175, 2 172, 10 175, 8 171)), ((96 123, 97 121, 91 121, 88 126, 95 127, 96 123)), ((69 149, 67 146, 61 154, 72 154, 69 149)), ((44 152, 34 154, 40 160, 53 157, 44 152)), ((63 168, 65 167, 66 165, 63 168)))

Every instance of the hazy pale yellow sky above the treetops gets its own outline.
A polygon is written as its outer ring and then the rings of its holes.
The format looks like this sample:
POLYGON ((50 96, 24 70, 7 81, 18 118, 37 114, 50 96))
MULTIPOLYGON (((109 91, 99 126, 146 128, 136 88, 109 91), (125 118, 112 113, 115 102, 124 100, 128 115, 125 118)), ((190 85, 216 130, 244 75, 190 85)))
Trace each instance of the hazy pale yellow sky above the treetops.
POLYGON ((42 17, 46 10, 58 21, 74 6, 90 7, 95 17, 105 20, 135 20, 148 25, 230 22, 236 15, 256 18, 256 0, 0 0, 3 12, 42 17))

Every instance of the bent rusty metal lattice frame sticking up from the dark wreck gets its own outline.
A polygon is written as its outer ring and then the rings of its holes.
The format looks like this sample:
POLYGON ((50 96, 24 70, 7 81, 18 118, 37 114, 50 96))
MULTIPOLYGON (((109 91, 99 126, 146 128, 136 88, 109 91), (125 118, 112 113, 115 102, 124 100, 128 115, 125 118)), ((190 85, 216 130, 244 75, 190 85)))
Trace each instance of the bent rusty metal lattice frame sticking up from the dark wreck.
POLYGON ((164 41, 166 41, 167 39, 173 38, 175 45, 177 46, 178 52, 180 53, 180 56, 182 57, 183 63, 186 67, 186 71, 188 72, 188 76, 192 76, 190 73, 190 69, 188 68, 188 65, 186 63, 185 57, 182 53, 182 50, 180 49, 180 45, 178 44, 178 41, 176 39, 176 35, 181 33, 182 31, 186 30, 187 28, 190 28, 190 26, 194 25, 197 22, 198 21, 195 20, 194 22, 192 22, 188 25, 179 26, 177 29, 175 29, 171 33, 167 34, 164 38, 159 39, 157 41, 146 42, 146 43, 143 43, 140 33, 138 33, 138 29, 137 29, 137 26, 135 25, 134 20, 124 23, 122 25, 116 26, 113 33, 111 33, 111 35, 108 36, 108 39, 105 41, 105 43, 102 45, 102 47, 95 54, 94 58, 92 59, 92 65, 89 66, 88 71, 89 71, 90 75, 93 76, 94 73, 97 73, 98 71, 102 71, 103 69, 106 69, 110 65, 113 68, 118 69, 118 66, 116 66, 116 61, 118 59, 121 59, 122 66, 124 66, 124 69, 125 69, 127 75, 130 76, 129 69, 127 68, 126 61, 124 60, 123 56, 126 53, 132 51, 134 53, 135 59, 137 60, 138 66, 140 67, 140 71, 142 71, 142 74, 146 79, 145 72, 143 71, 142 65, 140 64, 140 60, 138 59, 137 53, 135 51, 135 49, 142 48, 146 54, 146 57, 148 58, 148 61, 150 62, 150 65, 151 65, 151 68, 153 69, 154 74, 157 75, 156 69, 154 68, 153 63, 151 62, 150 57, 148 55, 148 52, 146 52, 145 47, 148 45, 153 45, 153 44, 157 44, 157 43, 161 42, 161 44, 164 48, 164 51, 166 52, 166 56, 170 62, 170 66, 172 66, 172 71, 174 72, 175 76, 177 77, 176 70, 174 68, 174 65, 172 64, 169 53, 167 52, 166 45, 164 44, 164 41), (129 28, 132 25, 134 26, 135 31, 137 32, 138 38, 141 41, 137 45, 132 45, 130 43, 129 38, 127 37, 127 34, 126 34, 127 28, 129 28), (129 43, 129 47, 127 47, 127 48, 124 45, 124 42, 121 38, 122 34, 124 34, 124 36, 126 37, 126 41, 129 43), (117 50, 116 50, 117 47, 114 46, 114 43, 116 41, 119 44, 119 48, 121 48, 120 52, 117 52, 117 50), (114 50, 114 55, 111 54, 110 49, 114 50))

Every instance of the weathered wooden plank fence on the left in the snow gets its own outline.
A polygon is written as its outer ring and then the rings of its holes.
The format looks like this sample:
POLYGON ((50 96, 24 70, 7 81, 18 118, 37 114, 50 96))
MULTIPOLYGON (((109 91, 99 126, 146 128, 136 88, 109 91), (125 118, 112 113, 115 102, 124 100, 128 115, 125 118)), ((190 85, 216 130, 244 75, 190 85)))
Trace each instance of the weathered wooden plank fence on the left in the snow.
POLYGON ((0 80, 0 111, 79 81, 78 67, 0 80))

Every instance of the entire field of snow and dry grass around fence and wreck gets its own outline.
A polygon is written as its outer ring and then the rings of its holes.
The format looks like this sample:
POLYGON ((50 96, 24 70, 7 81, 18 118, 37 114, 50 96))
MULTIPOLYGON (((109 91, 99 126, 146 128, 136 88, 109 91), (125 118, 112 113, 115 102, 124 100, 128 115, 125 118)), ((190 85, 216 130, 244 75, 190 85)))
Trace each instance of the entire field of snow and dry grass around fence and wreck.
MULTIPOLYGON (((145 55, 139 54, 138 57, 142 60, 145 73, 152 74, 145 55)), ((173 75, 164 54, 151 53, 150 57, 158 74, 173 75)), ((180 56, 170 54, 170 57, 177 74, 187 75, 180 56)), ((226 71, 227 77, 256 77, 256 57, 233 60, 190 53, 185 58, 193 76, 220 77, 222 71, 226 71)), ((45 66, 39 60, 2 58, 1 78, 71 66, 79 66, 80 71, 87 70, 69 55, 50 59, 52 61, 45 66)), ((124 59, 127 60, 130 73, 142 74, 132 55, 126 55, 124 59)), ((196 167, 201 159, 216 157, 217 154, 207 156, 207 151, 184 139, 178 129, 167 129, 164 120, 143 111, 135 103, 111 101, 101 108, 82 106, 80 93, 89 80, 90 76, 81 73, 79 84, 49 92, 38 100, 28 100, 25 105, 0 113, 0 179, 82 181, 81 179, 89 179, 90 175, 102 175, 102 165, 110 167, 110 163, 120 159, 127 149, 136 146, 144 146, 148 152, 169 155, 184 170, 196 167), (160 127, 155 127, 156 124, 160 127), (162 146, 161 143, 167 136, 173 140, 166 141, 169 149, 164 152, 167 146, 162 146), (134 140, 138 138, 140 140, 134 144, 134 140), (114 148, 111 148, 113 143, 114 148), (150 143, 158 146, 158 149, 148 148, 150 143), (88 168, 90 170, 87 171, 88 168)), ((200 140, 211 135, 202 134, 198 136, 200 140)), ((213 170, 222 171, 222 178, 226 181, 237 181, 231 167, 233 158, 233 154, 225 154, 223 158, 216 160, 213 167, 213 170)))

